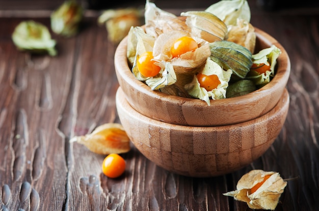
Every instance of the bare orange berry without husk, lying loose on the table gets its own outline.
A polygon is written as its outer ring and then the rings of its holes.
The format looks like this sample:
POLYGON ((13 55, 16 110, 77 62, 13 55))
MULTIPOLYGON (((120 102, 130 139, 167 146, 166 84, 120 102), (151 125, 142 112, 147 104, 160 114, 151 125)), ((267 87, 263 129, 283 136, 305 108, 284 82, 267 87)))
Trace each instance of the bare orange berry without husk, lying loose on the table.
POLYGON ((125 160, 118 154, 110 154, 104 158, 102 172, 109 178, 117 178, 125 171, 125 160))

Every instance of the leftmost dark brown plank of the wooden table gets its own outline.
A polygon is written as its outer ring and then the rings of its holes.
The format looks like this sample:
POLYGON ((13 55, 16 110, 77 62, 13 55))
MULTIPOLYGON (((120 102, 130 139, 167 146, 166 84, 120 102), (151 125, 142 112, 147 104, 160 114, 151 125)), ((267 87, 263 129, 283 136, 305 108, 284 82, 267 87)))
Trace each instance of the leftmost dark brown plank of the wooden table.
MULTIPOLYGON (((67 168, 65 142, 56 130, 56 122, 66 100, 67 76, 72 71, 68 61, 73 58, 74 42, 65 43, 70 53, 63 57, 18 52, 8 33, 18 21, 1 21, 7 33, 2 30, 0 41, 0 113, 1 131, 7 135, 1 137, 4 151, 0 181, 2 187, 9 188, 11 196, 4 207, 61 210, 66 198, 67 168)), ((48 24, 47 19, 38 21, 48 24)))

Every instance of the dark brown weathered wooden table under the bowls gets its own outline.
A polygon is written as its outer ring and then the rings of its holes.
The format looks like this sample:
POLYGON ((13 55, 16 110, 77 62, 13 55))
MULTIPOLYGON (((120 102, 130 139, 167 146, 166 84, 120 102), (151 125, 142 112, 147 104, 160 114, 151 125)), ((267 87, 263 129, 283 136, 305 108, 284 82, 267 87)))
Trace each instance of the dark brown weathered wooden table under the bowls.
POLYGON ((104 156, 69 142, 98 125, 119 122, 116 45, 97 26, 97 13, 87 13, 78 36, 54 35, 56 57, 19 52, 11 41, 22 20, 49 26, 46 13, 1 13, 0 210, 250 210, 222 193, 234 190, 252 169, 291 179, 276 210, 318 209, 319 10, 265 12, 254 2, 251 23, 270 33, 290 56, 288 116, 262 157, 236 172, 203 179, 170 173, 134 146, 122 155, 125 173, 109 179, 101 173, 104 156))

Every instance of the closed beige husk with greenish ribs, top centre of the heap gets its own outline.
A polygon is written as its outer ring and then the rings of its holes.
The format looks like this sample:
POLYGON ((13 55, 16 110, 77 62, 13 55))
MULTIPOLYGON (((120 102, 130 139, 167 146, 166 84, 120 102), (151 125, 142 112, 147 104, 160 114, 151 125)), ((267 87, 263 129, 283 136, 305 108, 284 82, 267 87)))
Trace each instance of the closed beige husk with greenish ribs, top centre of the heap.
POLYGON ((186 16, 186 24, 191 28, 191 33, 209 43, 224 40, 227 26, 217 16, 204 11, 189 11, 181 13, 186 16))

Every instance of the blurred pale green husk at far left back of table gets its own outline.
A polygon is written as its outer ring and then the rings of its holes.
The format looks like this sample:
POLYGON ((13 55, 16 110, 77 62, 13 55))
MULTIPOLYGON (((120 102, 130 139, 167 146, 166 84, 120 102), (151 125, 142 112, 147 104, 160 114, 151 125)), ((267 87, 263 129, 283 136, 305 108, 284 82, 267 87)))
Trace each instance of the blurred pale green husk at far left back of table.
POLYGON ((56 41, 51 39, 49 30, 41 23, 32 20, 20 22, 12 33, 12 40, 21 51, 57 55, 56 41))

